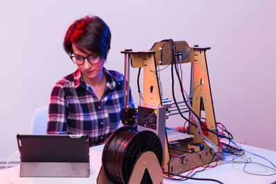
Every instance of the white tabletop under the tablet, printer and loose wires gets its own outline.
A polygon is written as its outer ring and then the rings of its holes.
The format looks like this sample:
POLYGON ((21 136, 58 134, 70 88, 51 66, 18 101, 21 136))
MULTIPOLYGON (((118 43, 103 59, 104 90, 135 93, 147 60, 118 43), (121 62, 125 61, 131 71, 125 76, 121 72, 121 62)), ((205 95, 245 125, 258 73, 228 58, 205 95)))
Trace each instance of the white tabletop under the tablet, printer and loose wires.
MULTIPOLYGON (((274 164, 276 164, 276 152, 270 151, 270 150, 264 150, 262 148, 252 147, 249 145, 242 145, 242 147, 245 150, 248 150, 249 152, 253 152, 255 154, 259 154, 261 156, 266 157, 266 159, 269 159, 274 164)), ((89 178, 43 178, 43 177, 27 177, 27 178, 21 178, 19 177, 19 165, 15 167, 10 167, 8 170, 0 170, 0 183, 1 184, 8 184, 8 183, 14 183, 14 184, 55 184, 55 183, 97 183, 97 176, 99 174, 99 170, 101 167, 101 152, 103 150, 103 145, 99 145, 96 147, 90 148, 90 176, 89 178)), ((232 159, 233 156, 228 155, 224 159, 225 161, 229 161, 232 159)), ((270 167, 273 167, 265 161, 264 159, 260 159, 257 156, 250 155, 250 158, 254 162, 263 163, 264 165, 268 165, 270 167)), ((218 165, 214 168, 207 168, 204 172, 199 172, 195 177, 197 178, 215 178, 223 183, 273 183, 276 181, 276 175, 273 176, 255 176, 251 174, 246 174, 241 169, 244 167, 244 164, 235 164, 232 165, 232 163, 224 164, 224 165, 218 165)), ((199 168, 198 170, 202 170, 202 168, 199 168)), ((250 164, 246 166, 246 170, 250 172, 260 172, 259 174, 271 174, 272 172, 262 172, 265 171, 264 167, 261 167, 256 164, 250 164)), ((275 173, 275 172, 274 172, 275 173)), ((188 172, 185 172, 185 174, 188 174, 188 172)), ((194 180, 188 180, 188 181, 171 181, 168 179, 164 179, 164 183, 199 183, 202 181, 194 181, 194 180)), ((211 181, 204 181, 204 183, 214 183, 211 181)))

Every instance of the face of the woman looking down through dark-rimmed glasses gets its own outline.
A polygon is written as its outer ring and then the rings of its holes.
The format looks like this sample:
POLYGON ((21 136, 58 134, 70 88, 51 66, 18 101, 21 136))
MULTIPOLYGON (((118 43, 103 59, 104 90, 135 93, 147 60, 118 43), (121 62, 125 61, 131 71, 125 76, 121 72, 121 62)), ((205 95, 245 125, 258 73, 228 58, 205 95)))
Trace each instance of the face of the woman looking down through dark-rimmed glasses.
MULTIPOLYGON (((88 57, 90 55, 95 56, 96 54, 87 52, 81 52, 81 50, 78 50, 77 47, 72 44, 72 49, 74 51, 74 55, 78 55, 81 57, 88 57)), ((100 57, 100 61, 97 64, 90 63, 87 59, 84 60, 84 63, 82 65, 77 65, 79 70, 81 70, 81 74, 83 76, 83 80, 86 83, 90 82, 96 82, 99 80, 103 74, 103 63, 105 59, 104 57, 100 57)))

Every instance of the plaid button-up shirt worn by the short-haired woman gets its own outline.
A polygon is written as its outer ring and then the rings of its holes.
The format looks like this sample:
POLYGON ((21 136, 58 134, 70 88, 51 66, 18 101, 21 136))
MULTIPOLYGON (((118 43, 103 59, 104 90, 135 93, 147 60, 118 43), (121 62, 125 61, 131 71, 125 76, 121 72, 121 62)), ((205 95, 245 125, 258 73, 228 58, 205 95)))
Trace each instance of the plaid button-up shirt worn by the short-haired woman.
MULTIPOLYGON (((84 83, 79 69, 57 81, 50 98, 47 134, 87 134, 90 146, 105 143, 120 122, 124 75, 106 68, 103 72, 106 88, 101 99, 84 83)), ((130 106, 134 107, 131 93, 130 106)))

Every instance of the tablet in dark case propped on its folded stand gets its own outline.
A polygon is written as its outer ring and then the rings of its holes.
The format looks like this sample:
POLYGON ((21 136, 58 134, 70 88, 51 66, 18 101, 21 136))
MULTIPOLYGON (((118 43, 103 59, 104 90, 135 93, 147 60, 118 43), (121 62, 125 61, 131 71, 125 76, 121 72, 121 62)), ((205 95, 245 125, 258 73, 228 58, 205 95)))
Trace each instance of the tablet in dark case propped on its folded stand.
POLYGON ((17 134, 20 176, 89 176, 87 135, 17 134))

